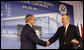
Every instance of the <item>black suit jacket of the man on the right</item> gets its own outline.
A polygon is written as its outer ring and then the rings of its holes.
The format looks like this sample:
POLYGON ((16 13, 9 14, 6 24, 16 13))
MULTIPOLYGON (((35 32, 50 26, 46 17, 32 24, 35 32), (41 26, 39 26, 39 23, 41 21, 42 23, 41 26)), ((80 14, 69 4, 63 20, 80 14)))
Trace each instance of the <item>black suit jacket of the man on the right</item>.
POLYGON ((59 38, 59 45, 60 45, 59 49, 73 48, 71 40, 80 39, 76 26, 69 24, 66 34, 64 32, 65 32, 64 26, 59 27, 55 35, 49 39, 50 44, 52 44, 59 38))

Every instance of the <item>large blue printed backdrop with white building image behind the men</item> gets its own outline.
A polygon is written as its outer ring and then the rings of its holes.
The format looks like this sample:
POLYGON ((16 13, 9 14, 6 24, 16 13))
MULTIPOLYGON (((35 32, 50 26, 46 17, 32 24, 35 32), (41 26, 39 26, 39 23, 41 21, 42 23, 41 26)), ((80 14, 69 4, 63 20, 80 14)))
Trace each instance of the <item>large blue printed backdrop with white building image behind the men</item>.
MULTIPOLYGON (((42 40, 47 41, 62 26, 60 5, 66 6, 70 24, 74 24, 73 6, 57 1, 1 1, 1 49, 20 49, 18 25, 25 25, 25 16, 33 14, 35 25, 42 28, 42 40)), ((59 39, 49 47, 37 45, 37 49, 58 49, 59 39)))

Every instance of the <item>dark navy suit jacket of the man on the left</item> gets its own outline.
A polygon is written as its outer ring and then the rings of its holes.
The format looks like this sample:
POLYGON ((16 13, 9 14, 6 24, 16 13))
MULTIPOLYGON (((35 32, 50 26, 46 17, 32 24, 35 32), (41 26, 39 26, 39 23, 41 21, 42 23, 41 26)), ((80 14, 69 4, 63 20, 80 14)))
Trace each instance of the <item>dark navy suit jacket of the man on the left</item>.
POLYGON ((21 49, 36 49, 36 44, 46 46, 46 42, 40 40, 35 30, 26 24, 21 32, 21 49))

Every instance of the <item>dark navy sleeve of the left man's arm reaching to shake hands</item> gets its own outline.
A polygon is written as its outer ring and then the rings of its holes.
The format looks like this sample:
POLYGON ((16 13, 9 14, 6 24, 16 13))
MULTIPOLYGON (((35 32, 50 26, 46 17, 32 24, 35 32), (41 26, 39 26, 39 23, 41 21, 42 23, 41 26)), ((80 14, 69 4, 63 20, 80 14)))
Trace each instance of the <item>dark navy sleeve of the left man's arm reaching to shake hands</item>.
POLYGON ((28 29, 28 37, 36 44, 46 46, 46 42, 40 40, 33 29, 28 29))

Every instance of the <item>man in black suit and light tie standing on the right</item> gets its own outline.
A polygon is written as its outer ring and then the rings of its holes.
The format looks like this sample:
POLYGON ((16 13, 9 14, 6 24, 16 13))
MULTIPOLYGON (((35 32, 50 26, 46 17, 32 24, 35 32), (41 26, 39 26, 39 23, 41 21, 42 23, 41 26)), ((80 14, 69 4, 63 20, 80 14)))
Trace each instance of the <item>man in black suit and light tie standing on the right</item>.
POLYGON ((55 42, 58 38, 60 44, 59 49, 73 49, 72 43, 79 43, 78 39, 80 39, 80 36, 77 33, 77 28, 76 26, 69 24, 69 22, 69 15, 62 15, 63 26, 59 27, 55 35, 47 41, 48 46, 55 42))

